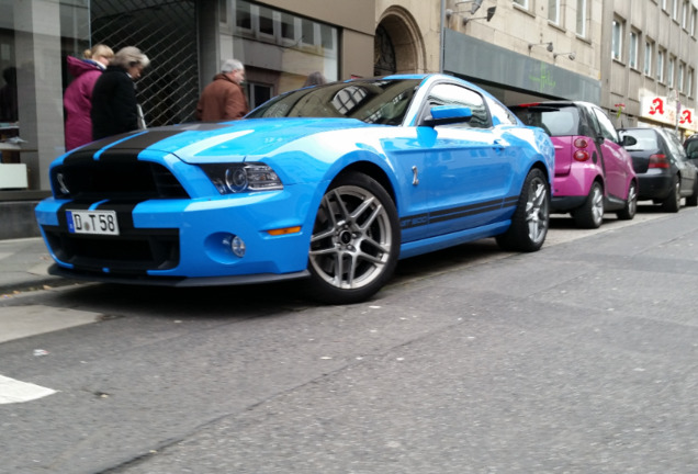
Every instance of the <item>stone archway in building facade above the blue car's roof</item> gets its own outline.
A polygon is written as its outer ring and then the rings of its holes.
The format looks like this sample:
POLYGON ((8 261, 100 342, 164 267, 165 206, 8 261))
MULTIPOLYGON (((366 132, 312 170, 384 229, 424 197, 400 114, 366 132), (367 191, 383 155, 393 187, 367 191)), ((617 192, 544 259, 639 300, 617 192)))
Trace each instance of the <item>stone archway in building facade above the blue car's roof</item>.
POLYGON ((424 38, 413 15, 391 7, 375 29, 373 65, 376 76, 425 72, 424 38))

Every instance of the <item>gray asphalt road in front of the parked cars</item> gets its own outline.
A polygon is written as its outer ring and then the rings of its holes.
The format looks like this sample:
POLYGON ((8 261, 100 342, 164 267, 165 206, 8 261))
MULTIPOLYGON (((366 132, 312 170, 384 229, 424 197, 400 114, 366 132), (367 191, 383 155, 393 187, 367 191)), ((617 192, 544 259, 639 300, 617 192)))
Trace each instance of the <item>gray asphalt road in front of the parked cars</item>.
POLYGON ((85 318, 0 343, 0 375, 55 391, 0 405, 0 473, 698 472, 698 208, 570 224, 536 253, 405 260, 352 306, 293 285, 1 302, 85 318))

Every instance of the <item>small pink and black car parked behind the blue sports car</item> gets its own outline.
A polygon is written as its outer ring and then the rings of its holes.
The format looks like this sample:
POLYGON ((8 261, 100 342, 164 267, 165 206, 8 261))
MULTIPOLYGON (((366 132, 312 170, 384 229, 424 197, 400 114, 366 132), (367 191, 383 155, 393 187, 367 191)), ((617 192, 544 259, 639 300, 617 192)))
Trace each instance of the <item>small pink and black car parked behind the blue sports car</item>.
POLYGON ((638 208, 638 178, 612 122, 588 102, 538 102, 509 108, 541 127, 555 146, 552 213, 571 213, 577 227, 597 228, 605 212, 631 219, 638 208))

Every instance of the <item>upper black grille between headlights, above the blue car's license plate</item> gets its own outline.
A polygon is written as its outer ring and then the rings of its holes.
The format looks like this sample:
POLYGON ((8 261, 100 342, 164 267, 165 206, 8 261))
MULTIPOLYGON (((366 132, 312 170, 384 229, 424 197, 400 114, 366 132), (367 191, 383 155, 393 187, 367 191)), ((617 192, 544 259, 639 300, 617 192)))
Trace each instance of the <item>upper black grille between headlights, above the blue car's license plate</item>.
POLYGON ((136 160, 76 160, 52 170, 56 196, 103 199, 185 199, 189 194, 164 166, 136 160))

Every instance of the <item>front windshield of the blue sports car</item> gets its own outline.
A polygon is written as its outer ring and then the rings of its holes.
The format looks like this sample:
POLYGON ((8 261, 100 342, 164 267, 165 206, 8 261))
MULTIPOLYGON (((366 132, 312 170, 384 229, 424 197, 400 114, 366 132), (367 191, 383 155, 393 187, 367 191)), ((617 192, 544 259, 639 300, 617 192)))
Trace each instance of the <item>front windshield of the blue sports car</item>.
POLYGON ((419 79, 372 79, 299 89, 269 100, 246 119, 357 119, 399 125, 419 83, 419 79))

